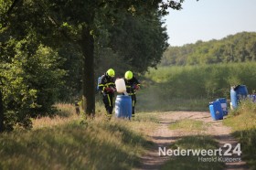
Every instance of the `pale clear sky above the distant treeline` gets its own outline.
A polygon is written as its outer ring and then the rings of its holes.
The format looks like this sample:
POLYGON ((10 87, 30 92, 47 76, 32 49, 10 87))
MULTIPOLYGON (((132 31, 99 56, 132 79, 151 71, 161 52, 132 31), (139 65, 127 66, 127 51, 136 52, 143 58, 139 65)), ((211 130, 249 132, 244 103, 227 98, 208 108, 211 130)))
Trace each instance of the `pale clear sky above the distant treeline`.
POLYGON ((256 0, 185 0, 164 19, 170 46, 256 32, 256 0))

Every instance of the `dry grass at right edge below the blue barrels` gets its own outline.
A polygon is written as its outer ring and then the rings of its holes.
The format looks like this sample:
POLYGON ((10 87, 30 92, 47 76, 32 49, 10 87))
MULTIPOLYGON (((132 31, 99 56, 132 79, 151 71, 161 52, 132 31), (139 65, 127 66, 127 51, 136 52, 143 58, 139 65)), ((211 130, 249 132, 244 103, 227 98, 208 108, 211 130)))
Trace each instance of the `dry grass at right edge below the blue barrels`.
POLYGON ((232 127, 233 135, 241 143, 242 159, 256 169, 256 103, 241 101, 224 123, 232 127))

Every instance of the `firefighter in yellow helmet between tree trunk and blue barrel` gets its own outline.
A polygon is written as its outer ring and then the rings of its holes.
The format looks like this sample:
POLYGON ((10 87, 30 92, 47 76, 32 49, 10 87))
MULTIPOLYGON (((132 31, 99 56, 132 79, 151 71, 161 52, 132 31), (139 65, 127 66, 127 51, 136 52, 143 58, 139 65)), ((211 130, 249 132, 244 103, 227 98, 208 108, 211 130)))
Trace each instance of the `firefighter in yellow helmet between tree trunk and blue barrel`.
POLYGON ((101 76, 101 82, 99 83, 99 90, 101 90, 103 102, 107 111, 107 116, 109 119, 112 117, 113 109, 113 97, 115 91, 114 84, 115 72, 113 69, 108 69, 107 72, 101 76))

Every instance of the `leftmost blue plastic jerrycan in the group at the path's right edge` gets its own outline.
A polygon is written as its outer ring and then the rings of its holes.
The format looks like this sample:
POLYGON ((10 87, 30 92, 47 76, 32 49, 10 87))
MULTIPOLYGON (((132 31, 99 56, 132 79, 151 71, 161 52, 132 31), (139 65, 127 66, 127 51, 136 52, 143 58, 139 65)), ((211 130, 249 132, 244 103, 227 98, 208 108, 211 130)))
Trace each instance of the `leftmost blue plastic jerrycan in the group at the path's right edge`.
POLYGON ((212 101, 209 103, 209 112, 214 121, 223 119, 223 112, 219 101, 212 101))

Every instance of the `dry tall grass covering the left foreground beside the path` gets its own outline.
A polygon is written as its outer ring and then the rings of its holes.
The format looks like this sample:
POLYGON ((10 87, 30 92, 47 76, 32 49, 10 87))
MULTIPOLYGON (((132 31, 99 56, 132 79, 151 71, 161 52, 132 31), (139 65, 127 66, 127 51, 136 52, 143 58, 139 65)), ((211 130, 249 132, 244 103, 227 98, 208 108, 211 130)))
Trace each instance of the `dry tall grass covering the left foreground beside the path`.
POLYGON ((106 122, 97 103, 96 119, 80 123, 70 104, 58 104, 59 115, 34 121, 31 131, 0 135, 0 169, 132 169, 152 146, 144 133, 156 127, 156 113, 130 122, 106 122))

